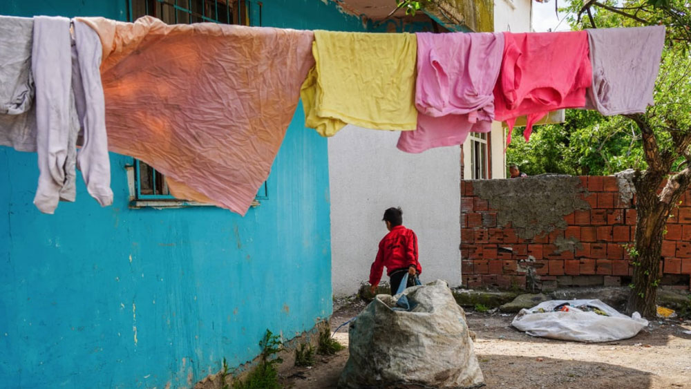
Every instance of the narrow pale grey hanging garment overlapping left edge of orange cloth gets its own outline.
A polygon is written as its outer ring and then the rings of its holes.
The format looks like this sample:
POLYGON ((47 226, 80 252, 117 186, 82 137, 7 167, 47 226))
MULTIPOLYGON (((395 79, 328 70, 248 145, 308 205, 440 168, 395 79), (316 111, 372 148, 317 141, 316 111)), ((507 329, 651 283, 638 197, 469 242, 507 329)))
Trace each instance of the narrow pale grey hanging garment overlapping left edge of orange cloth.
POLYGON ((81 21, 74 21, 77 61, 73 58, 72 86, 82 127, 77 167, 88 193, 102 207, 113 203, 111 162, 108 159, 106 102, 101 84, 101 39, 81 21), (75 69, 77 69, 75 71, 75 69))

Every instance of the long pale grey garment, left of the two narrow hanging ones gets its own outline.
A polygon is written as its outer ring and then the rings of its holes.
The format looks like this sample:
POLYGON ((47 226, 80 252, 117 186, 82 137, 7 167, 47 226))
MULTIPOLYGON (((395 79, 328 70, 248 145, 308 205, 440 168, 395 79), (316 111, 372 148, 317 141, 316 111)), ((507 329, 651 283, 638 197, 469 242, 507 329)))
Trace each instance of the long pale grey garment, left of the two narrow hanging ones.
POLYGON ((78 120, 72 95, 70 19, 35 17, 31 71, 36 84, 39 184, 34 204, 53 214, 59 200, 75 200, 78 120))

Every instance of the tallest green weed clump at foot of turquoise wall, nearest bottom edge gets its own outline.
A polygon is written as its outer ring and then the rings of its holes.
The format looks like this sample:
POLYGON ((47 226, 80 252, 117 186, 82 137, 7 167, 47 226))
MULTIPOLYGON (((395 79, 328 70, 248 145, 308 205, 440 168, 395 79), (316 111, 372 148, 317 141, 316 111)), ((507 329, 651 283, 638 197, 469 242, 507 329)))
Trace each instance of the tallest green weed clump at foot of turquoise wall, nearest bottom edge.
POLYGON ((259 365, 245 380, 236 381, 234 389, 281 389, 276 370, 276 365, 283 362, 283 359, 276 357, 278 352, 283 351, 281 338, 266 330, 264 337, 259 341, 259 347, 262 349, 259 365))

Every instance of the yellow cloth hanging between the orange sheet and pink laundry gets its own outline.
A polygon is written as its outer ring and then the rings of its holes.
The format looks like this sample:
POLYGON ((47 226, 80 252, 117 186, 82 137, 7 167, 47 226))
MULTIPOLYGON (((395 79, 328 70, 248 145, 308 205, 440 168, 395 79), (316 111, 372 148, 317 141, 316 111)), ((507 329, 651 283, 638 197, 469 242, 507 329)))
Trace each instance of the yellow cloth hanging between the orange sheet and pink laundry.
POLYGON ((314 31, 316 64, 302 86, 305 126, 415 130, 415 35, 314 31))

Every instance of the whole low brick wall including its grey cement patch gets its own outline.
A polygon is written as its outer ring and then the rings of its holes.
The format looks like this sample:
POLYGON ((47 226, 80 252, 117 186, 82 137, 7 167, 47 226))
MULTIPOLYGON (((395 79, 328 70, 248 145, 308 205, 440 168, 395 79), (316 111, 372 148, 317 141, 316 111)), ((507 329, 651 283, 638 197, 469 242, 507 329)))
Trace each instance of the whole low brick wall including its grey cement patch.
MULTIPOLYGON (((632 186, 614 176, 462 182, 466 287, 621 286, 633 265, 632 186)), ((670 214, 661 283, 691 286, 691 191, 670 214)))

